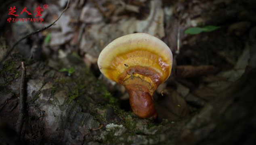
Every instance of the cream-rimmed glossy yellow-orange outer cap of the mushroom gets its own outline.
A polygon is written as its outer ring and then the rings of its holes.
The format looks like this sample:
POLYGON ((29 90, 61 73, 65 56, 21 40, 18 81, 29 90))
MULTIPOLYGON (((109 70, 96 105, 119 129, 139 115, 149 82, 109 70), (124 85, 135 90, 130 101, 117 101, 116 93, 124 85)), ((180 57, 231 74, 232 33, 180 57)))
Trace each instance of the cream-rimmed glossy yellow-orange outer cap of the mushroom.
POLYGON ((99 55, 98 66, 103 75, 118 83, 120 75, 131 66, 152 68, 164 82, 172 69, 172 52, 157 37, 133 33, 109 43, 99 55))

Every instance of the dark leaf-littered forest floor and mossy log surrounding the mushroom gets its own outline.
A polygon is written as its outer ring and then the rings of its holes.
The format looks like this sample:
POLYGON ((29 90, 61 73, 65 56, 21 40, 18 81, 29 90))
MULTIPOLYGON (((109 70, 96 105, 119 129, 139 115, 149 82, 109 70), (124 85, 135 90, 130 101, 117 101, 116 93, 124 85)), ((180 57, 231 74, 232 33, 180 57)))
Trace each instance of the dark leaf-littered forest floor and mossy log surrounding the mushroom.
POLYGON ((72 0, 61 15, 66 6, 0 5, 3 145, 256 144, 254 0, 72 0), (107 44, 130 33, 158 37, 173 54, 153 96, 157 120, 133 114, 125 88, 97 65, 107 44))

